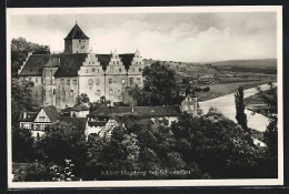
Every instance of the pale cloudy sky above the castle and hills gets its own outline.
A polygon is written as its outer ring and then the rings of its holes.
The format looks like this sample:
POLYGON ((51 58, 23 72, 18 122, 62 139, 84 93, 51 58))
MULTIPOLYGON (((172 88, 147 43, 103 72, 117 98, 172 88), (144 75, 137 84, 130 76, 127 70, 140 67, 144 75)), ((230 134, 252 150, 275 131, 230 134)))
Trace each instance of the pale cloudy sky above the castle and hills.
POLYGON ((13 14, 9 35, 64 50, 76 24, 96 53, 133 53, 146 59, 210 62, 277 58, 275 12, 13 14))

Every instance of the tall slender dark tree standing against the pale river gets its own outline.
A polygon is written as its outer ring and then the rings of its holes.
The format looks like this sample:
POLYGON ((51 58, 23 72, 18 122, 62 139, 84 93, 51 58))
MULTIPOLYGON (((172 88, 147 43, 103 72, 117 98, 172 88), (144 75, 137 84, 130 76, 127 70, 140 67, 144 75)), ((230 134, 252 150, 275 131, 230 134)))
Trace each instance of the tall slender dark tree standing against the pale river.
POLYGON ((248 131, 247 126, 247 115, 245 113, 243 104, 243 88, 239 86, 238 91, 235 93, 235 104, 236 104, 236 120, 238 124, 242 126, 245 131, 248 131))

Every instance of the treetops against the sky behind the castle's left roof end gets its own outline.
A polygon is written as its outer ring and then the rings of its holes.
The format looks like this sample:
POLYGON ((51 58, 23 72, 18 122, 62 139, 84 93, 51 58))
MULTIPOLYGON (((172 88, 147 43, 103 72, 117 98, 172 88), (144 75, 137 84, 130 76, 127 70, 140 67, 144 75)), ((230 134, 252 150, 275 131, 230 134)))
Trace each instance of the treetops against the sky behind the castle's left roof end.
POLYGON ((50 53, 49 45, 39 45, 37 43, 28 42, 24 38, 12 39, 11 41, 11 72, 17 74, 17 71, 23 64, 28 57, 28 52, 34 54, 50 53))

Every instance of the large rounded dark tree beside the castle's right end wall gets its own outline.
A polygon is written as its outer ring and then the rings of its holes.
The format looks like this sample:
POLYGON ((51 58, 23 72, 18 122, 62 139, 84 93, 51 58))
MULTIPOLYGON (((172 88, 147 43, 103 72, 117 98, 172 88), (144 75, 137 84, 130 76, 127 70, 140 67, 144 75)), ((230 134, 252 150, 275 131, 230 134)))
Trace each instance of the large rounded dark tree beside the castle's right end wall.
POLYGON ((171 105, 179 95, 176 72, 160 62, 143 69, 143 88, 132 89, 129 94, 138 105, 171 105))

